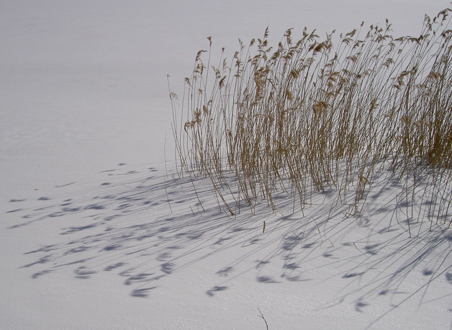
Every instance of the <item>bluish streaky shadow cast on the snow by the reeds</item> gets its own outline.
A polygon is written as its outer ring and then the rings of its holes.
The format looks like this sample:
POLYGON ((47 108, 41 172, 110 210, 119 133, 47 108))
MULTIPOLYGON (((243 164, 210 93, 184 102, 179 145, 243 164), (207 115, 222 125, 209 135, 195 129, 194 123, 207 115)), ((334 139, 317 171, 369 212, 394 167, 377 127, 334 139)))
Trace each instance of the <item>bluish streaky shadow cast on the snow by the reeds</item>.
MULTIPOLYGON (((386 198, 352 217, 348 205, 338 204, 334 209, 324 206, 326 199, 334 200, 334 193, 319 193, 311 196, 303 216, 299 211, 292 212, 293 200, 281 195, 278 212, 272 213, 266 204, 258 203, 255 214, 251 214, 241 201, 241 212, 231 216, 217 203, 208 180, 196 179, 198 200, 193 198, 196 193, 190 178, 167 178, 161 170, 159 176, 155 168, 121 170, 105 172, 115 173, 109 176, 108 184, 100 178, 91 184, 62 186, 58 189, 67 191, 48 194, 46 200, 25 198, 15 202, 20 203, 19 208, 9 216, 18 217, 16 228, 58 221, 58 234, 68 238, 64 243, 45 244, 26 252, 36 255, 33 262, 21 266, 36 270, 33 279, 52 276, 68 267, 75 278, 86 281, 109 272, 130 288, 132 297, 145 298, 163 278, 231 250, 235 257, 231 255, 212 271, 212 281, 221 282, 212 283, 206 291, 208 296, 232 288, 230 283, 245 273, 257 272, 254 278, 259 285, 343 281, 334 303, 344 303, 344 297, 352 295, 354 310, 362 312, 375 299, 406 296, 399 288, 419 270, 429 278, 428 283, 405 301, 414 296, 422 300, 422 291, 436 281, 452 283, 452 272, 447 268, 452 264, 451 231, 441 226, 429 231, 425 223, 411 223, 411 230, 419 236, 410 238, 407 223, 398 219, 400 206, 395 199, 386 198), (174 201, 179 202, 177 208, 174 201), (42 204, 27 207, 32 202, 42 204), (391 207, 395 208, 392 218, 384 218, 391 207), (426 266, 439 256, 443 258, 441 264, 426 266), (324 269, 336 271, 319 282, 312 273, 324 273, 324 269)), ((377 194, 391 190, 377 188, 377 194)))

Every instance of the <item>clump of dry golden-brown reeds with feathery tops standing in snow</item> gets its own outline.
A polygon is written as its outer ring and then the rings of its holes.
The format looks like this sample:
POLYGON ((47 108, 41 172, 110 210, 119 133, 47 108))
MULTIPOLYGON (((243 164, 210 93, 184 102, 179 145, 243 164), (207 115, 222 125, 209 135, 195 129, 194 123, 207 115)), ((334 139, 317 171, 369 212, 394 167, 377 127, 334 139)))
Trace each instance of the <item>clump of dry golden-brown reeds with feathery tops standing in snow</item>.
POLYGON ((247 46, 239 39, 232 60, 222 48, 214 65, 209 37, 185 78, 181 111, 170 92, 180 173, 210 178, 234 214, 259 201, 276 210, 277 192, 303 210, 324 191, 359 213, 385 172, 402 183, 406 205, 416 189, 429 196, 418 221, 427 214, 450 226, 450 12, 426 15, 416 37, 393 38, 386 20, 323 39, 305 28, 294 40, 288 29, 273 48, 267 28, 247 46))

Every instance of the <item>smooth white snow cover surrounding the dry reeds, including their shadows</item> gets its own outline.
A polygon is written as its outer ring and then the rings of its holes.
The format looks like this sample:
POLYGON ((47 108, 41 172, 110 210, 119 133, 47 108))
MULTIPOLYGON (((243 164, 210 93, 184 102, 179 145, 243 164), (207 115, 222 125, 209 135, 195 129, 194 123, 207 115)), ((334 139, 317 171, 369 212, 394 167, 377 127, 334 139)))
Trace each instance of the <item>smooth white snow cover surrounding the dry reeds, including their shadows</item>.
POLYGON ((201 205, 173 175, 166 80, 181 93, 207 36, 233 53, 267 26, 279 41, 386 18, 417 35, 448 5, 5 1, 0 328, 265 329, 259 308, 271 330, 452 329, 450 231, 409 238, 386 190, 328 222, 328 196, 305 217, 227 217, 200 182, 201 205))

